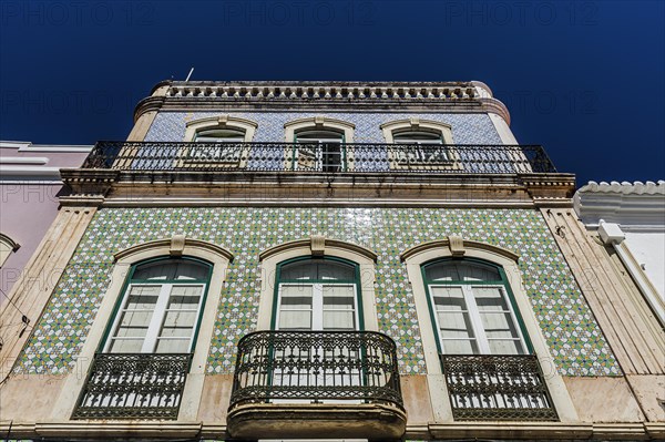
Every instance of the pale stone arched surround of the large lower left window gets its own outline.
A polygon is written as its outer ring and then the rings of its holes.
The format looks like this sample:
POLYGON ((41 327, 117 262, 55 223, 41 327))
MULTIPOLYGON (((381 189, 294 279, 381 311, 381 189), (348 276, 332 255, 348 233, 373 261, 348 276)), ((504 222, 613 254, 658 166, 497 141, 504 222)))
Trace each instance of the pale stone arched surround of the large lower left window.
POLYGON ((166 256, 195 257, 204 259, 212 265, 207 297, 205 305, 202 306, 203 316, 201 317, 194 356, 185 382, 177 418, 178 421, 192 422, 196 420, 198 404, 203 394, 205 367, 213 340, 217 306, 219 305, 226 270, 228 264, 233 260, 233 255, 219 246, 203 240, 188 239, 184 235, 175 235, 171 239, 157 239, 140 244, 114 255, 115 266, 111 274, 111 284, 104 292, 94 322, 88 333, 88 339, 76 360, 76 367, 66 376, 61 393, 54 403, 51 419, 57 421, 70 420, 81 390, 84 387, 86 373, 90 370, 94 354, 104 337, 106 326, 113 319, 115 305, 119 297, 123 296, 122 288, 132 266, 146 259, 166 256))

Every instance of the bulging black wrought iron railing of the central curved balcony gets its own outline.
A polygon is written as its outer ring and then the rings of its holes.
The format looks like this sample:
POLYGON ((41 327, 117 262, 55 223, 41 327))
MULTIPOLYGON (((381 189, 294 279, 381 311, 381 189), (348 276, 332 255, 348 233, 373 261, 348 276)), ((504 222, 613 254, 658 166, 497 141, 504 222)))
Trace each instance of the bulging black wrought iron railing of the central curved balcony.
POLYGON ((257 331, 243 337, 231 409, 279 400, 401 409, 395 342, 372 331, 257 331))

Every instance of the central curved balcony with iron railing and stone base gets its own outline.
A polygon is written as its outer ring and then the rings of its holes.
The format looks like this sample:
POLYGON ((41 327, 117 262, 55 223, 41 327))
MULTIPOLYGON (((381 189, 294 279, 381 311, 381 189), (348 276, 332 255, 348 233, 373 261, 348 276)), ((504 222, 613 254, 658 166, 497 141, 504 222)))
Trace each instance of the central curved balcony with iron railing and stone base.
POLYGON ((371 331, 258 331, 238 342, 234 439, 400 439, 392 339, 371 331))

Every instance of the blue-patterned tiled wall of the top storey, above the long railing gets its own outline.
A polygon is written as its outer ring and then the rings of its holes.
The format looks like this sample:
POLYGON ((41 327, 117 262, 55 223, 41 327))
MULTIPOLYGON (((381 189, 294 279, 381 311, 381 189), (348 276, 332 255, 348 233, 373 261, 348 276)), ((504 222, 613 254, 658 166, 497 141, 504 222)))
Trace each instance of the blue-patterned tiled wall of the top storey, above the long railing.
MULTIPOLYGON (((311 112, 160 112, 150 127, 145 141, 192 141, 185 140, 185 124, 192 120, 228 114, 258 123, 254 142, 280 143, 285 141, 284 123, 324 115, 356 125, 355 143, 386 143, 381 124, 406 120, 415 114, 406 113, 311 113, 311 112)), ((419 113, 421 120, 432 120, 452 126, 454 144, 501 144, 501 138, 487 114, 427 114, 419 113)))

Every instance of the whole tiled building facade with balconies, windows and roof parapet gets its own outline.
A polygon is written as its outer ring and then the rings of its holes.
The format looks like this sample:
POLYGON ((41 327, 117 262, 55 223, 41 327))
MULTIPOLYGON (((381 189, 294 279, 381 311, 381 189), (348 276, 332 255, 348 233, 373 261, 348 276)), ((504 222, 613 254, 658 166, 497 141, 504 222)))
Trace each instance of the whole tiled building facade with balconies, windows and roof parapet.
POLYGON ((551 220, 574 176, 483 83, 163 82, 134 117, 61 171, 0 431, 665 436, 551 220))

